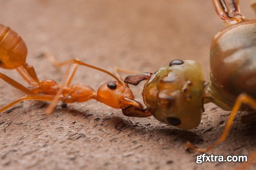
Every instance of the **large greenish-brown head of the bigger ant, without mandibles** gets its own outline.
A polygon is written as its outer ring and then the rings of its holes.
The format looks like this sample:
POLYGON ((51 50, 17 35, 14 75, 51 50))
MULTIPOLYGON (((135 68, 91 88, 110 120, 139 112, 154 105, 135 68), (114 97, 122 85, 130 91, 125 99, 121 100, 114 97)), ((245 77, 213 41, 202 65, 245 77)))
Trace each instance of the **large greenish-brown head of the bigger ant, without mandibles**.
POLYGON ((201 120, 203 84, 203 71, 198 62, 174 60, 146 82, 143 100, 160 122, 193 129, 201 120))

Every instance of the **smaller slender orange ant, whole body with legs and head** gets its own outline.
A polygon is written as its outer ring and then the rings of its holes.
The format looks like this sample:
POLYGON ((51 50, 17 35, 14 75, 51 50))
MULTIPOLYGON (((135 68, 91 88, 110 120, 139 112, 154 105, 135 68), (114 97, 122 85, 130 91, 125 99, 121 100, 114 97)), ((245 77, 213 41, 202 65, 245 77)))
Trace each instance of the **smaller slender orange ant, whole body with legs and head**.
POLYGON ((147 110, 143 109, 143 105, 134 99, 134 95, 129 86, 109 71, 83 63, 77 59, 59 63, 54 58, 50 58, 56 66, 66 64, 74 64, 74 66, 71 71, 69 71, 69 67, 66 74, 67 78, 63 84, 57 84, 51 79, 39 81, 34 68, 26 64, 27 47, 22 38, 9 27, 0 25, 0 42, 0 66, 5 69, 16 69, 30 84, 30 87, 27 88, 0 72, 0 78, 2 80, 27 94, 0 108, 0 112, 24 100, 53 101, 53 104, 47 111, 51 113, 55 106, 54 102, 57 101, 74 103, 87 102, 88 100, 94 99, 116 109, 130 108, 130 110, 133 110, 132 113, 129 112, 130 114, 124 113, 126 116, 151 116, 147 110), (90 86, 84 84, 74 84, 70 86, 78 65, 102 71, 112 76, 116 81, 102 84, 97 92, 90 86))

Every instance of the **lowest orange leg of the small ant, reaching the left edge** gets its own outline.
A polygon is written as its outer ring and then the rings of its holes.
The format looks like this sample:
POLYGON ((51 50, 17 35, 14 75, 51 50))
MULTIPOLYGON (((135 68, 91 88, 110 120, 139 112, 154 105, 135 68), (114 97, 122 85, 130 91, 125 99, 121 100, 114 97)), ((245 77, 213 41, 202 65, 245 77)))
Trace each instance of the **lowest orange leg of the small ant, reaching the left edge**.
POLYGON ((54 95, 44 95, 44 94, 34 94, 34 95, 25 95, 22 98, 19 98, 4 107, 0 108, 0 113, 7 110, 8 108, 22 102, 28 100, 35 100, 35 101, 52 101, 54 99, 54 95))

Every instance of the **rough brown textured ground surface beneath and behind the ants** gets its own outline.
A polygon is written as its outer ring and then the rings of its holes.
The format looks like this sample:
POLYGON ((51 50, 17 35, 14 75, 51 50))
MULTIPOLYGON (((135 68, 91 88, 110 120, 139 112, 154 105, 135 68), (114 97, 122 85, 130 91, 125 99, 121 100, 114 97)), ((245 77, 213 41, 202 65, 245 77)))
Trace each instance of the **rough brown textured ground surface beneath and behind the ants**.
MULTIPOLYGON (((255 15, 249 1, 242 12, 255 15)), ((50 1, 1 0, 0 22, 27 43, 28 63, 40 79, 61 81, 65 68, 37 57, 50 51, 58 60, 79 58, 113 71, 115 66, 154 72, 173 59, 200 62, 208 78, 209 44, 224 28, 210 1, 50 1)), ((15 71, 1 70, 26 84, 15 71)), ((74 83, 94 89, 112 80, 79 67, 74 83)), ((141 101, 142 86, 132 87, 141 101)), ((0 81, 0 105, 24 94, 0 81)), ((227 115, 205 105, 200 126, 179 130, 153 117, 131 118, 96 101, 58 105, 47 116, 43 102, 23 102, 0 115, 0 169, 233 169, 239 163, 195 163, 186 140, 207 147, 222 133, 227 115)), ((228 139, 212 150, 221 155, 249 155, 255 125, 236 118, 228 139)), ((253 167, 252 167, 253 168, 253 167)), ((255 164, 254 164, 255 168, 255 164)))

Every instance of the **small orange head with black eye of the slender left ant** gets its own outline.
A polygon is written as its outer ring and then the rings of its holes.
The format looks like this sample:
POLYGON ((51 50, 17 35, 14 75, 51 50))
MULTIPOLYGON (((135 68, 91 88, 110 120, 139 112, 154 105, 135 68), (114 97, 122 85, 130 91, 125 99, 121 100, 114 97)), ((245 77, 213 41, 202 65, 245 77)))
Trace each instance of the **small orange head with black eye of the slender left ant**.
POLYGON ((102 84, 97 91, 97 100, 113 108, 124 108, 125 99, 134 99, 128 85, 121 81, 110 81, 102 84))

